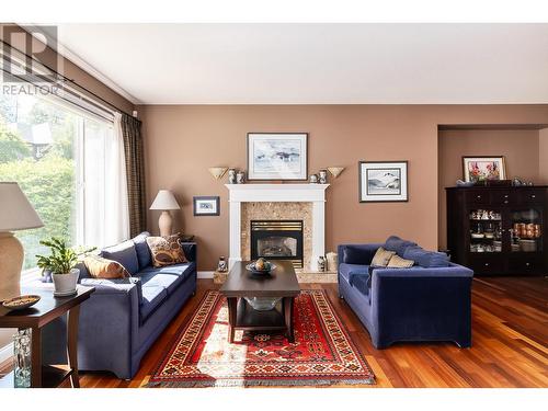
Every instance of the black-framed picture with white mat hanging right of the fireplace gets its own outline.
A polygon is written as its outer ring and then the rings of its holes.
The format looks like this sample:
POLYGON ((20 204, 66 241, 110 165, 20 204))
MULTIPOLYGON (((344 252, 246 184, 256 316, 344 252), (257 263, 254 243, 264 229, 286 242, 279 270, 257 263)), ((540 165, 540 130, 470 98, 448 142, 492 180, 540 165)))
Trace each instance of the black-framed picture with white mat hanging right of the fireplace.
POLYGON ((359 161, 359 203, 407 202, 407 161, 359 161))

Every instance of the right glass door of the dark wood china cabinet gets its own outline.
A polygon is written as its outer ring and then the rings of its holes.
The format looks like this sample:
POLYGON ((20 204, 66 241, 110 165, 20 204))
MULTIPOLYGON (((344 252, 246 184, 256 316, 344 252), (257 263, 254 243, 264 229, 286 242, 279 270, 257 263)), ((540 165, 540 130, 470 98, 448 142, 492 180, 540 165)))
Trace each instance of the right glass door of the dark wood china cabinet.
POLYGON ((543 251, 543 210, 535 207, 523 207, 510 212, 512 224, 512 252, 543 251))

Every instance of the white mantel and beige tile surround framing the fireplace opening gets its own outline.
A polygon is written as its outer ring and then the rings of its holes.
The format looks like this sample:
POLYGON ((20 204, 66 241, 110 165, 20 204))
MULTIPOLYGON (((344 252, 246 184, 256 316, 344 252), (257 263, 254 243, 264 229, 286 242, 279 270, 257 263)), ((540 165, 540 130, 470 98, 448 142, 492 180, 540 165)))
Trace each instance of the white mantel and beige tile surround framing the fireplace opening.
POLYGON ((326 254, 326 190, 329 184, 226 184, 229 191, 229 264, 250 259, 252 219, 304 221, 305 271, 326 254))

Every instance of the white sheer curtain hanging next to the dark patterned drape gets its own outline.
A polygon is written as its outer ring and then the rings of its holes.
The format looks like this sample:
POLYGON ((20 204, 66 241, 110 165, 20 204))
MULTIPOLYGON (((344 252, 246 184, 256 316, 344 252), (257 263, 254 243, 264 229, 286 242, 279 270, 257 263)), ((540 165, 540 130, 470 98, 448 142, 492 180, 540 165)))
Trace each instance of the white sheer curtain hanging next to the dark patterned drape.
POLYGON ((79 243, 105 247, 129 238, 127 176, 122 115, 114 123, 85 119, 83 124, 83 225, 79 243))

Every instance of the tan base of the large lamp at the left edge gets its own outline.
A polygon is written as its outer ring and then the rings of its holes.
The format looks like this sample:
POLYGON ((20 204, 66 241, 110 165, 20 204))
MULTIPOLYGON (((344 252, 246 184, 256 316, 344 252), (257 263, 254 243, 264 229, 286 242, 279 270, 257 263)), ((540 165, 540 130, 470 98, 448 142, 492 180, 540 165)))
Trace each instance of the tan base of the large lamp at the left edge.
POLYGON ((21 295, 23 246, 13 232, 0 232, 0 301, 21 295))

